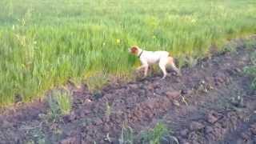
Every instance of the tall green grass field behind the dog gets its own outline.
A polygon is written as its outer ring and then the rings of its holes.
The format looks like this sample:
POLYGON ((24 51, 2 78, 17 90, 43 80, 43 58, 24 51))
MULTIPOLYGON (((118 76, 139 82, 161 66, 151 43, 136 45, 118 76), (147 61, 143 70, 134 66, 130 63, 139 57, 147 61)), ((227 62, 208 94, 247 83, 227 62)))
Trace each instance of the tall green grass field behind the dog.
POLYGON ((255 0, 2 0, 0 105, 27 102, 68 79, 97 88, 132 78, 130 45, 179 59, 256 32, 255 0))

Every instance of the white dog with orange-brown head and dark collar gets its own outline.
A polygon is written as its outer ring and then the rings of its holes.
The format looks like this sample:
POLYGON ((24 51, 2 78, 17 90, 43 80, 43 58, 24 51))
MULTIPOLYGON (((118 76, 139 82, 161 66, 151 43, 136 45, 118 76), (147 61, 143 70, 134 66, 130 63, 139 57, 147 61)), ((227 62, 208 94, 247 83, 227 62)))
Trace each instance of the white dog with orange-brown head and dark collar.
POLYGON ((149 66, 155 63, 158 63, 158 66, 162 70, 162 79, 166 78, 167 75, 166 66, 171 66, 178 75, 181 75, 180 71, 174 64, 174 58, 170 57, 170 54, 167 51, 146 51, 142 50, 138 46, 131 46, 129 52, 137 55, 142 62, 142 66, 139 66, 137 70, 144 68, 144 77, 146 77, 149 66))

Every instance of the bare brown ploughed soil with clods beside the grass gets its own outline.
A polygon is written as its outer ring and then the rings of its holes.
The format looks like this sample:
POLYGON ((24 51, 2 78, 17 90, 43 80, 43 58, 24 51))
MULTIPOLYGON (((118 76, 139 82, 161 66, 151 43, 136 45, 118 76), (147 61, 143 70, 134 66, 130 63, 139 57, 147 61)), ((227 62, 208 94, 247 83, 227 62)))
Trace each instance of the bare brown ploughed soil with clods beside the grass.
POLYGON ((0 142, 118 143, 127 122, 140 143, 139 134, 161 121, 184 144, 256 143, 256 92, 242 73, 253 50, 237 45, 235 52, 183 68, 182 77, 156 74, 95 94, 70 85, 73 110, 56 122, 46 120, 46 102, 7 110, 0 115, 0 142))

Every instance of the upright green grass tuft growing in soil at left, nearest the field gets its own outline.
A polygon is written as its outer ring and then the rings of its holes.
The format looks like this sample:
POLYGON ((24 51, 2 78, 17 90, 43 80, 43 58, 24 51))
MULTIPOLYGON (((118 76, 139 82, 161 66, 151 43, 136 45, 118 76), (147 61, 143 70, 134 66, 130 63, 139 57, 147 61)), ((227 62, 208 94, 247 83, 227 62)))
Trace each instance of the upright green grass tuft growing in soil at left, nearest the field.
POLYGON ((50 118, 55 120, 60 115, 70 114, 72 97, 66 90, 54 90, 47 99, 50 106, 50 118))

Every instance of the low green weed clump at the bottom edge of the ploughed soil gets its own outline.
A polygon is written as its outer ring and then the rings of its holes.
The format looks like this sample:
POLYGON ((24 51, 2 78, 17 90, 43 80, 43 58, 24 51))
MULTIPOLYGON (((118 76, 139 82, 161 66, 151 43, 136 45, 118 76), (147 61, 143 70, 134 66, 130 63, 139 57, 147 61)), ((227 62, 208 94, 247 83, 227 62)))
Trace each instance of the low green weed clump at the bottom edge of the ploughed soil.
POLYGON ((158 122, 154 129, 142 132, 142 143, 160 144, 162 142, 169 142, 178 144, 178 139, 170 135, 170 130, 162 122, 158 122))

